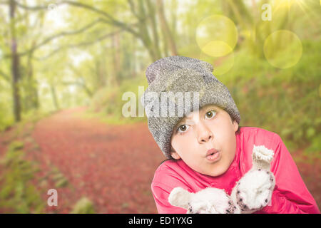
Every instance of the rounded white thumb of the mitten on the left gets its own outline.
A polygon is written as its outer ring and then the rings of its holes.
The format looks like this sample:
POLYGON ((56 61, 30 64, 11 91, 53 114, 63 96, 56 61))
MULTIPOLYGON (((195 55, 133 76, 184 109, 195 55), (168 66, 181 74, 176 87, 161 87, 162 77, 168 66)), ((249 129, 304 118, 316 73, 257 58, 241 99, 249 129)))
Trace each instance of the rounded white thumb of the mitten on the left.
POLYGON ((168 202, 175 207, 183 207, 184 209, 188 209, 188 202, 190 202, 190 198, 193 193, 188 192, 188 190, 184 190, 181 187, 175 187, 168 197, 168 202))

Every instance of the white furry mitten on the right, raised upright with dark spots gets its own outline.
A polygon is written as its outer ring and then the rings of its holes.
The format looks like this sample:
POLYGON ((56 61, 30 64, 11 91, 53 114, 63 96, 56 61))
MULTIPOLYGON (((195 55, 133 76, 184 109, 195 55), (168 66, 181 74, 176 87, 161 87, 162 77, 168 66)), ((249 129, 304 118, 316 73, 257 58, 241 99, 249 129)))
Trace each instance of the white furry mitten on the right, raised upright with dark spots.
POLYGON ((242 214, 253 213, 265 207, 275 187, 270 172, 273 151, 264 145, 253 147, 253 167, 236 183, 231 198, 242 214))

